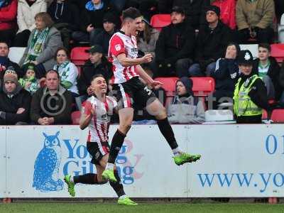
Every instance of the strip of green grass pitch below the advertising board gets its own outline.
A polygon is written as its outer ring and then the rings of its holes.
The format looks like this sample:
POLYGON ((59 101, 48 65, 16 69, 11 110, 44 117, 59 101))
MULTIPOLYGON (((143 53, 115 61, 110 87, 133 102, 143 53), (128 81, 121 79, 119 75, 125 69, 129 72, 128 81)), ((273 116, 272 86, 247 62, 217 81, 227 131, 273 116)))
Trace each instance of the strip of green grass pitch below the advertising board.
POLYGON ((98 203, 12 203, 0 204, 0 212, 2 213, 111 213, 111 212, 284 212, 284 204, 186 204, 186 203, 139 203, 136 207, 119 206, 114 203, 98 204, 98 203))

